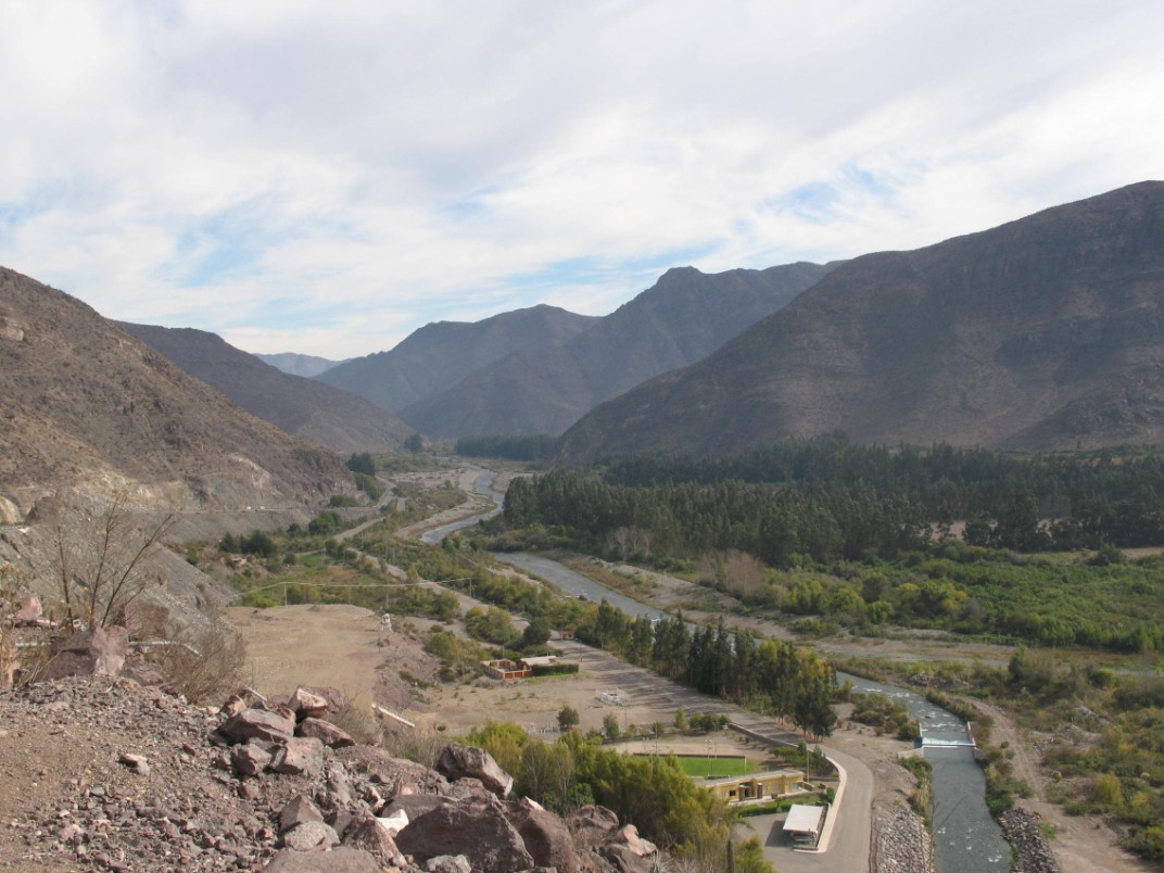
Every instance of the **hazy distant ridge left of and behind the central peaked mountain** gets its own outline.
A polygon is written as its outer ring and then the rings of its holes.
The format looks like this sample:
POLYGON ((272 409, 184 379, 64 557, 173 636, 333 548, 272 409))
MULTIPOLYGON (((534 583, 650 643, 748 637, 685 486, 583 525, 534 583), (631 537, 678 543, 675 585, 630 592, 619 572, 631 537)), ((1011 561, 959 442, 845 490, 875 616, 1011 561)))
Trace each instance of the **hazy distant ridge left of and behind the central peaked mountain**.
POLYGON ((439 321, 414 331, 390 352, 346 361, 318 378, 399 412, 513 352, 560 346, 596 320, 541 305, 471 324, 439 321))

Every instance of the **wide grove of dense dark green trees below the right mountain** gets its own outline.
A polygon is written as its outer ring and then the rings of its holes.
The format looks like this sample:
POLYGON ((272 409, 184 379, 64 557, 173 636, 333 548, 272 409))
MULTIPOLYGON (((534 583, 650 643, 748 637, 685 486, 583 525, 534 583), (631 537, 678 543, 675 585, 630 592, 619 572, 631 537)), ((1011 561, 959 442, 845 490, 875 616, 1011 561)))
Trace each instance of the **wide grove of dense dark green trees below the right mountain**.
POLYGON ((971 545, 1024 552, 1164 545, 1164 453, 1015 457, 854 446, 840 436, 725 459, 645 454, 516 480, 506 521, 639 552, 739 549, 772 566, 893 558, 956 520, 971 545))

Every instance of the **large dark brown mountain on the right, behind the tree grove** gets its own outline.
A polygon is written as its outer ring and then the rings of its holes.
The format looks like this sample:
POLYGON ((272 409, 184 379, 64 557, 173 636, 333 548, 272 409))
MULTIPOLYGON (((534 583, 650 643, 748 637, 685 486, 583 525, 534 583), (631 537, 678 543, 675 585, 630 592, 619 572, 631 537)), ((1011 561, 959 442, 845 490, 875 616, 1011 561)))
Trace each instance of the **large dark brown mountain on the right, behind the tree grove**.
POLYGON ((1164 439, 1164 183, 866 255, 715 355, 598 409, 572 460, 860 441, 1073 449, 1164 439))

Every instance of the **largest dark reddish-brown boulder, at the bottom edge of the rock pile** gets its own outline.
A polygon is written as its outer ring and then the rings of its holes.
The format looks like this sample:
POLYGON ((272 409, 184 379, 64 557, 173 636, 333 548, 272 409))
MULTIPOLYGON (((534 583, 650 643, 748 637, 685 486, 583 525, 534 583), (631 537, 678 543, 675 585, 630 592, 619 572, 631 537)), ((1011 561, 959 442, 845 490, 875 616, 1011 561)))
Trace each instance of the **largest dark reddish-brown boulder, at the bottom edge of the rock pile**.
POLYGON ((413 819, 396 845, 419 861, 463 854, 482 873, 513 873, 534 866, 520 835, 495 803, 447 803, 413 819))

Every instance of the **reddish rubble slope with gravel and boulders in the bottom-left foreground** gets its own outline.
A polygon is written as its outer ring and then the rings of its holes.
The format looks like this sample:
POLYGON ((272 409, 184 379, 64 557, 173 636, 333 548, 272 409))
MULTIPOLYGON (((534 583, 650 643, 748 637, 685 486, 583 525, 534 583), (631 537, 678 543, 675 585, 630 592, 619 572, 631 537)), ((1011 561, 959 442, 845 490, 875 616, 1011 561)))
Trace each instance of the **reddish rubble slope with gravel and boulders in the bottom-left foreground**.
POLYGON ((326 689, 221 711, 129 679, 0 694, 0 867, 633 873, 654 845, 602 807, 509 799, 481 750, 435 769, 360 745, 326 689), (318 693, 322 691, 322 693, 318 693))

